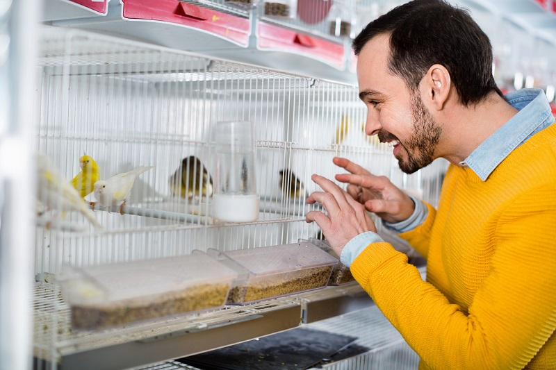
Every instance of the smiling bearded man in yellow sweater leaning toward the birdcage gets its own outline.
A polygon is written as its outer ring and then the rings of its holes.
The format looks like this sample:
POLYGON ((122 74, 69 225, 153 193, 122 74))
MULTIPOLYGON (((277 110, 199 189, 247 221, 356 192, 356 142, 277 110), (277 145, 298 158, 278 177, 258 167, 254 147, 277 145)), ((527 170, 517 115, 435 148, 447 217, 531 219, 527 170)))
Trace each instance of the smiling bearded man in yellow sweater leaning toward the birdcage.
POLYGON ((353 42, 366 133, 411 174, 450 167, 438 208, 345 158, 308 203, 420 369, 556 369, 556 125, 540 89, 506 96, 488 37, 441 0, 405 3, 353 42), (427 259, 423 281, 368 212, 427 259))

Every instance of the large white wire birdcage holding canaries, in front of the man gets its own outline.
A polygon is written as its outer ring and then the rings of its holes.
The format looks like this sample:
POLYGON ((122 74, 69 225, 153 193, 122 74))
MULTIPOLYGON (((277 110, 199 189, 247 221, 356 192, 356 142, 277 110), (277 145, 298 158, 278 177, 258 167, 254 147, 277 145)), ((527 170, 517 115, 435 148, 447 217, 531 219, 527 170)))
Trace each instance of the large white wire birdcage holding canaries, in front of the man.
MULTIPOLYGON (((389 176, 436 203, 445 163, 403 174, 388 146, 366 135, 366 108, 353 85, 84 31, 49 27, 41 37, 29 104, 35 113, 33 144, 38 158, 46 158, 49 174, 61 180, 41 194, 45 168, 38 166, 33 306, 39 367, 98 369, 108 362, 114 368, 138 367, 170 360, 295 328, 309 307, 302 295, 286 295, 81 331, 72 328, 70 305, 58 286, 65 267, 90 271, 209 249, 322 239, 318 226, 305 221, 306 212, 322 209, 306 199, 319 189, 312 174, 334 179, 341 172, 332 163, 335 156, 389 176), (215 196, 222 190, 215 132, 225 121, 252 127, 249 176, 257 204, 247 221, 214 213, 215 196), (92 161, 96 172, 86 169, 92 161), (76 186, 81 186, 85 209, 65 208, 60 197, 80 173, 76 186), (134 178, 131 190, 113 200, 102 198, 97 181, 111 183, 122 174, 134 178), (89 183, 87 189, 83 183, 89 183), (230 324, 240 328, 237 336, 222 339, 230 324)), ((245 161, 238 162, 239 183, 245 161)), ((232 181, 224 178, 223 183, 232 181)), ((231 214, 252 206, 238 203, 231 214)), ((386 235, 378 221, 377 226, 386 235)), ((410 254, 409 246, 390 237, 410 254)), ((361 296, 357 284, 331 289, 322 291, 336 298, 361 296)))

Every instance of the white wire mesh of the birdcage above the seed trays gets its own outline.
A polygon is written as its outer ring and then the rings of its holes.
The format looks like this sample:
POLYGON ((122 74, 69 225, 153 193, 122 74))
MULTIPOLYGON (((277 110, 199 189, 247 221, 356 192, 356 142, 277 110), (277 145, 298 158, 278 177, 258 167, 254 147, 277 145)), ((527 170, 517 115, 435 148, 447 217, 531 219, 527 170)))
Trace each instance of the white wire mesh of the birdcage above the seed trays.
MULTIPOLYGON (((311 174, 334 180, 341 172, 332 164, 334 156, 389 176, 436 205, 445 162, 402 174, 391 149, 365 134, 366 108, 355 86, 60 28, 44 28, 40 45, 33 140, 61 183, 79 173, 83 155, 96 162, 102 180, 138 166, 152 168, 136 177, 124 204, 105 208, 95 203, 95 194, 86 194, 92 221, 85 211, 56 209, 60 184, 49 194, 54 207, 38 203, 39 280, 56 276, 63 264, 109 264, 322 237, 316 224, 305 222, 306 212, 320 206, 305 201, 319 190, 311 174), (254 126, 259 218, 243 224, 213 217, 210 181, 196 175, 205 168, 206 178, 213 178, 211 137, 217 122, 230 120, 254 126), (197 161, 184 161, 190 156, 197 161), (193 180, 175 192, 175 174, 193 180)), ((377 227, 386 235, 382 224, 377 227)), ((395 235, 389 240, 411 253, 395 235)))

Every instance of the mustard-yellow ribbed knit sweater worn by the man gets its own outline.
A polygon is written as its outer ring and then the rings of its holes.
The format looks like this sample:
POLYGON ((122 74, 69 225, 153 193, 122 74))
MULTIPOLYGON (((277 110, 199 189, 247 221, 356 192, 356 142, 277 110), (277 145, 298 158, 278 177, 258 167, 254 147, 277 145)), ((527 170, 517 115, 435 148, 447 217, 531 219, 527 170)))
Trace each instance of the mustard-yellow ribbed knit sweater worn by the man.
POLYGON ((386 242, 351 271, 420 355, 420 369, 556 369, 556 124, 486 181, 450 166, 438 210, 401 237, 427 282, 386 242))

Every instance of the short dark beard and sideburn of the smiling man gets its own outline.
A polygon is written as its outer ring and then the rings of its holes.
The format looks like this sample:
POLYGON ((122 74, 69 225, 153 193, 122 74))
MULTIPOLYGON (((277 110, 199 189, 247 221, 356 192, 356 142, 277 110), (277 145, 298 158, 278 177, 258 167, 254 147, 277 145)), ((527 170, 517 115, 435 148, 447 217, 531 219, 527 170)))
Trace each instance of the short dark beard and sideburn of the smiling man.
MULTIPOLYGON (((434 160, 434 150, 439 143, 442 128, 423 104, 423 100, 411 92, 411 118, 414 123, 414 130, 405 142, 400 141, 407 152, 407 160, 402 157, 398 159, 400 169, 406 174, 413 174, 418 169, 426 167, 434 160)), ((381 142, 399 140, 388 131, 381 130, 377 134, 381 142)))

